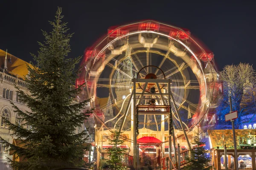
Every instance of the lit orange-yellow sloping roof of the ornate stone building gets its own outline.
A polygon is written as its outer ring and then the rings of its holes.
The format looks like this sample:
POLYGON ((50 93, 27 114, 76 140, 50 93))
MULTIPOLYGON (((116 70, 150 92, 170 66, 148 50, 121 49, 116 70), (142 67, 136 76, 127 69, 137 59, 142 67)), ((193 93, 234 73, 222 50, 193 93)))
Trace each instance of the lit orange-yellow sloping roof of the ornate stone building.
MULTIPOLYGON (((6 57, 6 51, 0 49, 0 66, 4 68, 4 60, 6 57)), ((28 74, 27 65, 28 62, 7 53, 7 70, 11 71, 13 74, 19 75, 20 77, 26 76, 28 74), (10 62, 11 61, 11 62, 10 62)))

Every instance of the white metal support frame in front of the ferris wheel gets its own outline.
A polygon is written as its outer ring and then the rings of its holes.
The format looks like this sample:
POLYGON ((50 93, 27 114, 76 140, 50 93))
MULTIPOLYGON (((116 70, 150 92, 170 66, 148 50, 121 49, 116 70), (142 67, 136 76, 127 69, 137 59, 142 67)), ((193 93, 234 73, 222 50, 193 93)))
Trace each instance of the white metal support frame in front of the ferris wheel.
MULTIPOLYGON (((177 116, 179 118, 180 125, 182 127, 182 130, 183 130, 184 136, 186 138, 188 147, 189 147, 189 149, 191 149, 189 139, 186 135, 185 127, 184 127, 184 125, 181 121, 180 114, 179 114, 178 109, 177 109, 177 104, 175 103, 175 100, 174 100, 174 97, 173 97, 173 94, 172 94, 172 91, 171 91, 171 88, 170 88, 170 84, 171 84, 170 79, 136 79, 136 78, 133 79, 133 91, 132 91, 132 94, 131 94, 131 97, 130 97, 130 100, 129 100, 129 103, 128 103, 128 106, 127 106, 128 108, 126 108, 126 110, 125 110, 125 117, 128 114, 128 110, 129 110, 129 107, 130 107, 131 100, 133 100, 133 107, 132 107, 132 110, 133 110, 132 111, 133 112, 133 117, 132 117, 133 122, 132 123, 133 124, 132 124, 132 126, 133 126, 133 149, 134 149, 133 153, 134 153, 134 167, 135 168, 138 165, 138 162, 137 162, 137 160, 138 160, 138 155, 137 155, 137 153, 138 153, 138 150, 137 150, 137 132, 136 132, 137 108, 139 109, 139 112, 138 112, 139 114, 144 114, 144 115, 145 114, 148 114, 148 115, 157 115, 158 114, 158 115, 168 115, 169 116, 170 115, 169 114, 169 112, 170 112, 169 109, 171 109, 170 105, 171 105, 171 102, 172 102, 173 105, 174 105, 175 111, 177 113, 177 116), (143 83, 144 84, 144 88, 143 88, 142 92, 138 92, 136 90, 136 84, 137 83, 143 83), (145 91, 148 83, 155 83, 157 85, 158 91, 157 91, 157 93, 154 93, 154 96, 160 96, 161 105, 140 105, 143 100, 148 99, 148 98, 144 99, 143 96, 152 96, 151 93, 148 93, 148 92, 145 91), (167 85, 168 92, 163 93, 160 89, 159 84, 167 85), (139 96, 138 100, 136 99, 136 96, 139 96), (166 102, 166 100, 167 100, 167 102, 166 102), (168 103, 168 105, 166 105, 166 103, 168 103), (155 108, 157 108, 157 109, 155 109, 155 108)), ((120 126, 120 129, 119 129, 120 131, 123 128, 124 122, 125 122, 125 118, 123 119, 122 124, 120 126)), ((173 130, 172 136, 173 136, 174 148, 175 148, 174 130, 173 130)), ((172 157, 172 144, 171 144, 172 136, 169 136, 169 156, 170 156, 170 158, 172 157)), ((176 148, 174 150, 176 151, 176 148)), ((176 159, 175 159, 175 161, 177 161, 176 159)))

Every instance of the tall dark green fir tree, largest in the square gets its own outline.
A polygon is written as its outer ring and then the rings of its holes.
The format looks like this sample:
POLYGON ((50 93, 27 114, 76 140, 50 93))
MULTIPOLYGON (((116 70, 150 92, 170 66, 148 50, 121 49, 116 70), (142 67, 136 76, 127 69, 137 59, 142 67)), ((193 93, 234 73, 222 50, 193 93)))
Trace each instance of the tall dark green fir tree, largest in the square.
POLYGON ((67 23, 61 22, 62 18, 61 8, 58 8, 54 22, 50 22, 52 31, 43 31, 45 41, 39 42, 38 55, 33 55, 37 65, 28 67, 29 74, 25 79, 30 94, 17 89, 30 109, 23 112, 12 103, 15 113, 22 117, 23 125, 6 120, 14 138, 21 142, 19 146, 4 142, 14 154, 24 159, 21 162, 11 160, 15 170, 50 170, 84 164, 85 147, 82 144, 86 131, 75 134, 75 130, 81 127, 91 111, 81 112, 88 100, 72 104, 73 96, 81 91, 81 86, 71 88, 79 74, 75 65, 81 57, 66 58, 72 34, 67 34, 67 23), (27 129, 27 125, 32 128, 27 129))

